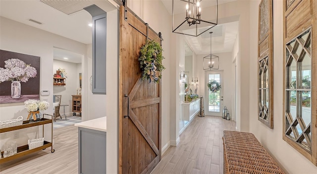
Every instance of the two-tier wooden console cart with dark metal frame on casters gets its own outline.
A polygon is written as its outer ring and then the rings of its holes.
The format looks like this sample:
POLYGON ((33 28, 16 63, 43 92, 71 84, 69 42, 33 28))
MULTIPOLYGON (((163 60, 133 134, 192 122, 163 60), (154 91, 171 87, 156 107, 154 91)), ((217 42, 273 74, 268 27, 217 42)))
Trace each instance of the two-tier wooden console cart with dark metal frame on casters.
POLYGON ((0 158, 0 164, 8 162, 10 160, 14 160, 14 159, 23 157, 25 155, 31 154, 31 153, 36 152, 36 151, 44 150, 44 149, 46 149, 48 147, 51 147, 51 152, 54 153, 55 150, 53 149, 53 143, 52 143, 53 142, 53 116, 52 115, 43 114, 43 117, 41 118, 40 121, 30 122, 30 120, 24 120, 21 125, 12 126, 12 127, 6 127, 6 128, 0 128, 0 133, 10 132, 10 131, 13 131, 13 130, 19 130, 19 129, 24 129, 24 128, 28 128, 28 127, 34 127, 34 126, 42 125, 43 126, 42 138, 44 138, 44 125, 45 124, 51 124, 51 136, 52 136, 51 142, 44 140, 42 146, 31 148, 31 149, 29 147, 29 144, 17 147, 17 153, 12 155, 12 156, 8 156, 8 157, 3 157, 4 151, 2 151, 1 152, 1 157, 2 158, 0 158), (51 116, 51 119, 44 118, 44 116, 51 116))

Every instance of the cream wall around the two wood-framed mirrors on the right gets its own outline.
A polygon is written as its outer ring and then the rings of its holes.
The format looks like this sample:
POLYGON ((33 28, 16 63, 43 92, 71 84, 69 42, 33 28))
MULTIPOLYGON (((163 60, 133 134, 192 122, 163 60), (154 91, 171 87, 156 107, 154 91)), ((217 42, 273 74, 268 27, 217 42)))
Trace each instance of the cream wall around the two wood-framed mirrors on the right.
MULTIPOLYGON (((258 7, 260 0, 250 1, 250 132, 289 174, 316 174, 317 167, 282 139, 283 133, 283 1, 273 0, 273 115, 274 128, 258 120, 257 52, 258 7)), ((244 41, 244 42, 248 42, 244 41)))

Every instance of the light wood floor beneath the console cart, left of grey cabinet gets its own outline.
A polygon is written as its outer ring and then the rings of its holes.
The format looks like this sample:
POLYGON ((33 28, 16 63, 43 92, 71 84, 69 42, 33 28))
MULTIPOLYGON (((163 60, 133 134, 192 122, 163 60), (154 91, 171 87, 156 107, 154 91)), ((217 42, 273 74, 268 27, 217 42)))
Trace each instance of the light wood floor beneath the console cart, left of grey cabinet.
POLYGON ((78 127, 54 129, 51 147, 0 165, 0 174, 78 174, 78 127))

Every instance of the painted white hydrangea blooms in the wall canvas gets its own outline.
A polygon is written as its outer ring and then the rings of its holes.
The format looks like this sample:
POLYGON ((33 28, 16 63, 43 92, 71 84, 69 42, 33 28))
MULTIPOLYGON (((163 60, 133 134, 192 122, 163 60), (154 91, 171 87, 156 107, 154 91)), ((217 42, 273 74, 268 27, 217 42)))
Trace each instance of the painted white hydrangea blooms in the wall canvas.
POLYGON ((35 67, 26 64, 18 58, 10 58, 4 61, 4 67, 0 67, 0 83, 5 81, 27 82, 29 78, 36 77, 35 67))

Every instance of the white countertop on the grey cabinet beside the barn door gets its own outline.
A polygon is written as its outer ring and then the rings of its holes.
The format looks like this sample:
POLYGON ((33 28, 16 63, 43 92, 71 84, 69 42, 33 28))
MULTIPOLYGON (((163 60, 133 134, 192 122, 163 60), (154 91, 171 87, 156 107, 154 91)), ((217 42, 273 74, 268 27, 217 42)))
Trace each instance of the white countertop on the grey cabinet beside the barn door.
POLYGON ((107 131, 107 117, 104 116, 101 118, 83 121, 80 123, 76 123, 75 126, 106 132, 107 131))

